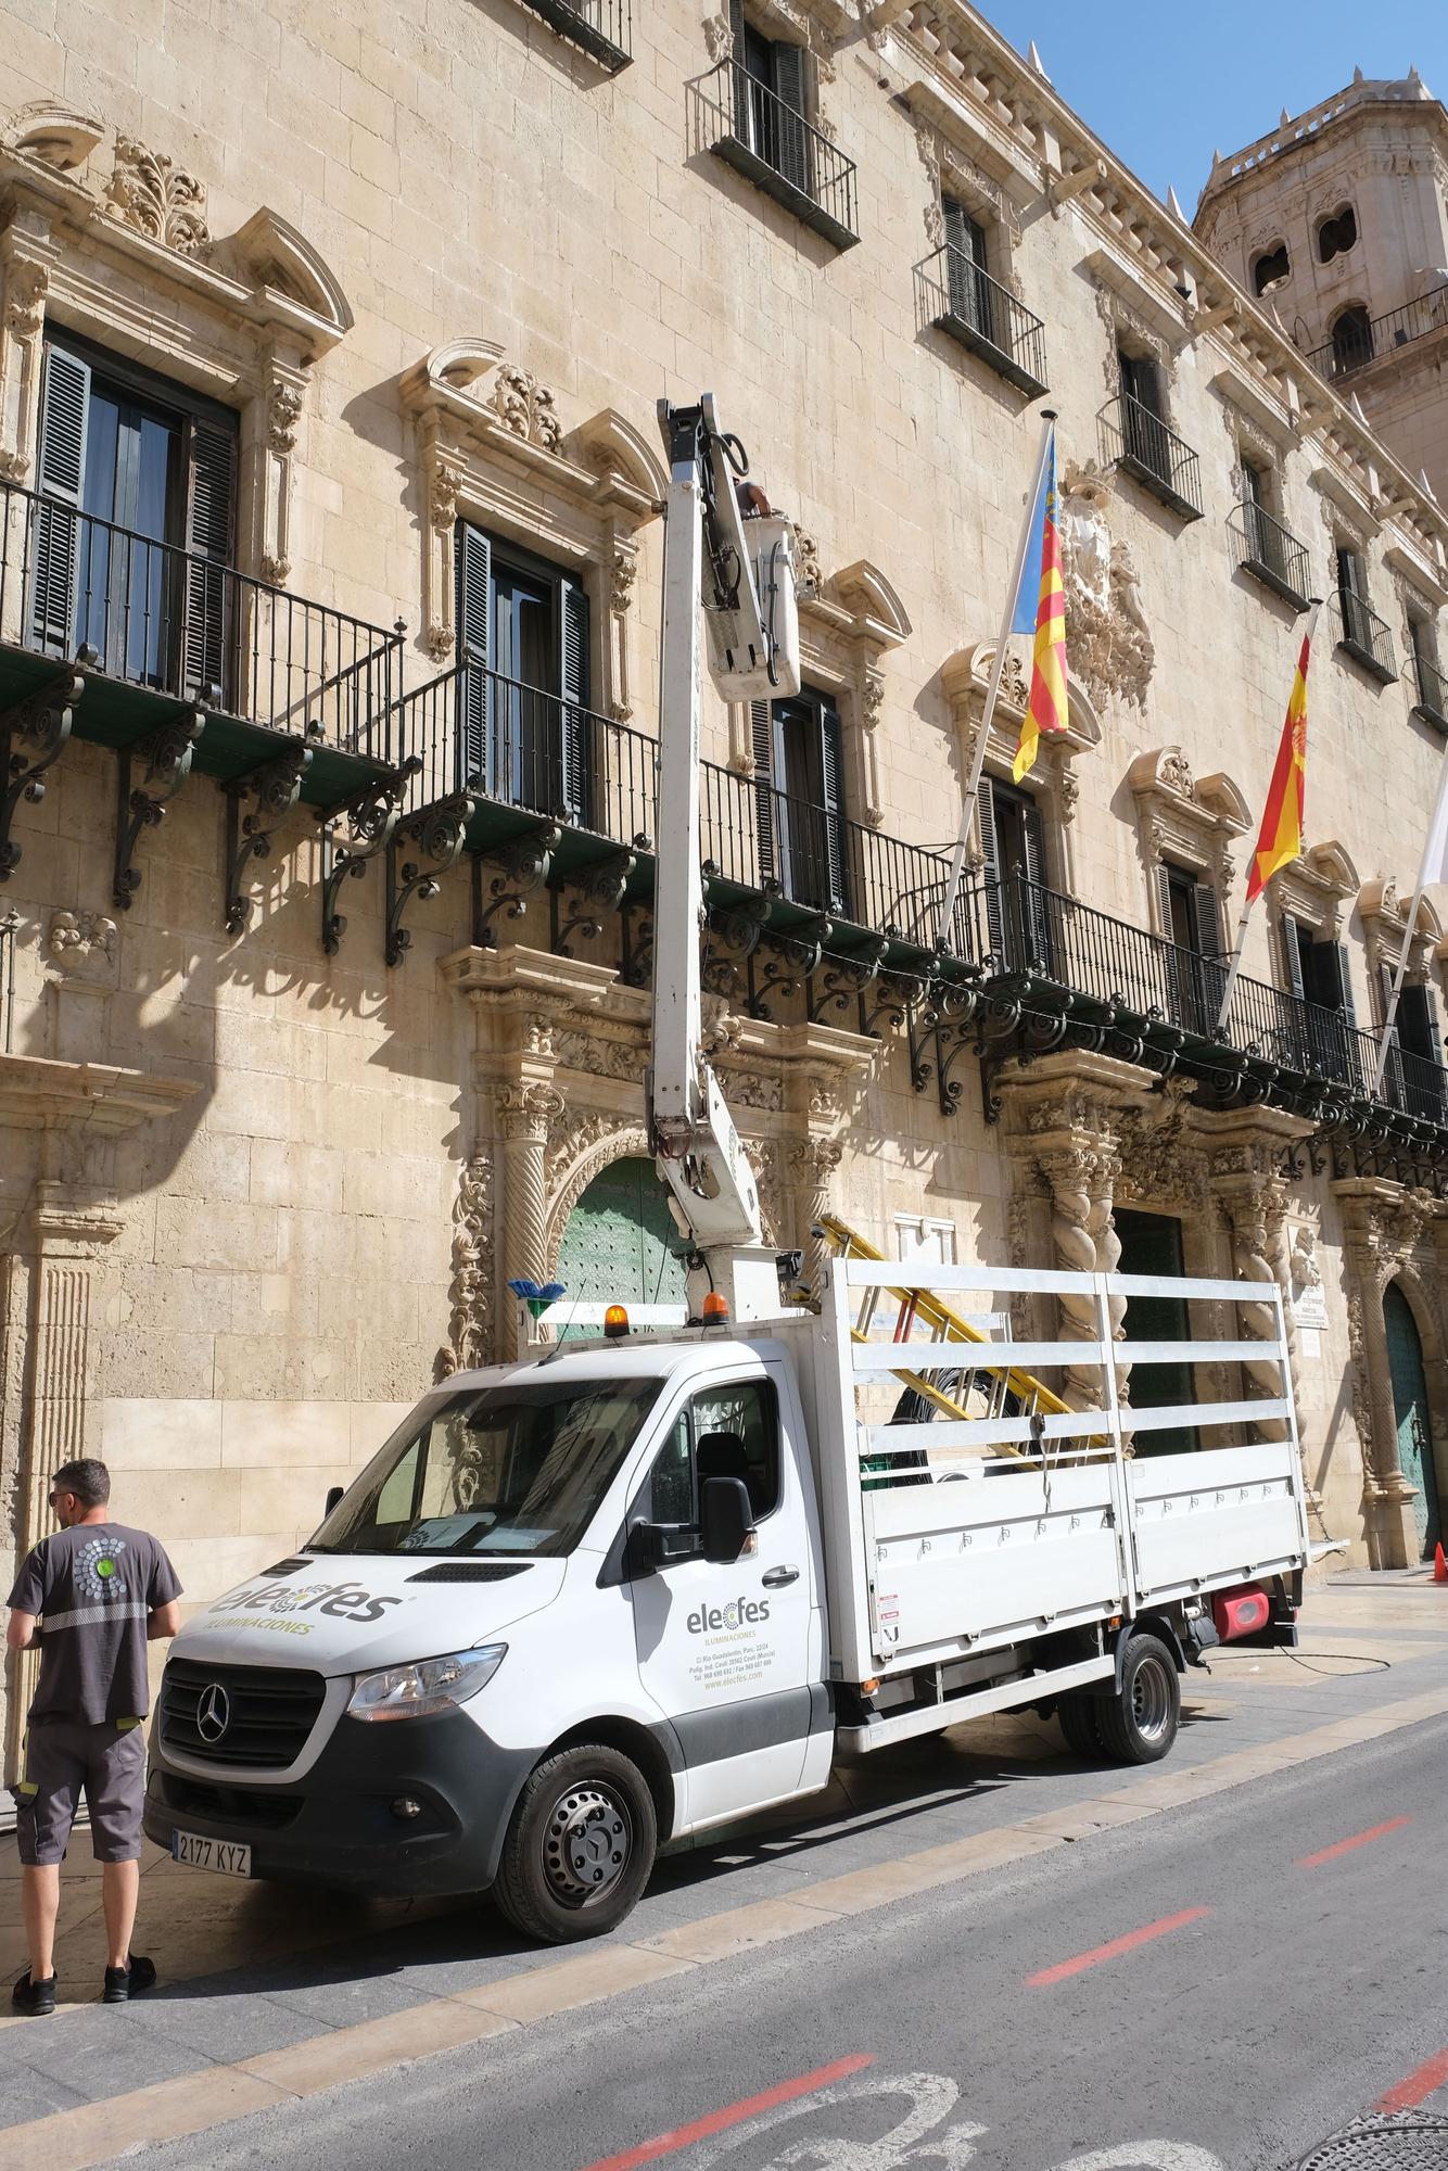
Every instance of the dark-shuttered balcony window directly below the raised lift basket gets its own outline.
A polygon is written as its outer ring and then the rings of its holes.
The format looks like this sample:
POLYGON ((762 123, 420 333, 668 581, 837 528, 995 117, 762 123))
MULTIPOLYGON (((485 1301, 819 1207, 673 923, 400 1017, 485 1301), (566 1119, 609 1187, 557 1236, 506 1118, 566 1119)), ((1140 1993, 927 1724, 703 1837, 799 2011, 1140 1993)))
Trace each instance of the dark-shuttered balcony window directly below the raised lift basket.
POLYGON ((844 734, 829 695, 753 701, 760 879, 814 912, 851 910, 844 734))

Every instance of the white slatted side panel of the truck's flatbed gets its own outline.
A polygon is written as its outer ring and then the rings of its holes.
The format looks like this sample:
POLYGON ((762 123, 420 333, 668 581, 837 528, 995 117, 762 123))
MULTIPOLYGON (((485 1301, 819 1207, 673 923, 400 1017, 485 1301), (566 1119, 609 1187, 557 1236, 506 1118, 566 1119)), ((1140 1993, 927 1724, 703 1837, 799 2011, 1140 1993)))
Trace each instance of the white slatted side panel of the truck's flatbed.
MULTIPOLYGON (((816 1389, 842 1422, 838 1450, 821 1457, 823 1509, 836 1561, 855 1563, 853 1574, 836 1567, 831 1589, 840 1678, 1131 1617, 1307 1561, 1272 1283, 855 1255, 827 1261, 821 1329, 816 1389), (888 1316, 858 1331, 873 1290, 951 1311, 968 1298, 1040 1298, 1046 1333, 986 1348, 992 1368, 1046 1374, 1055 1407, 973 1413, 901 1398, 903 1346, 888 1316), (1131 1333, 1135 1296, 1179 1298, 1185 1331, 1131 1333)), ((960 1374, 960 1342, 907 1350, 927 1383, 960 1374)))

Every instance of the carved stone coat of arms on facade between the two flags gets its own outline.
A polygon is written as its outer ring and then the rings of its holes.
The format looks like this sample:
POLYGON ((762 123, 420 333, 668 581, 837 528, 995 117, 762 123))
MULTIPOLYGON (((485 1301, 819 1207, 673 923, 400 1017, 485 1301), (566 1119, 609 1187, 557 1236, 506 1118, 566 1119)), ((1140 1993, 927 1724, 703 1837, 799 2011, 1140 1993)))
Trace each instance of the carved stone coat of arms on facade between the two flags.
POLYGON ((1146 706, 1157 651, 1127 545, 1112 534, 1112 486, 1094 462, 1062 478, 1066 560, 1066 662, 1092 701, 1146 706))

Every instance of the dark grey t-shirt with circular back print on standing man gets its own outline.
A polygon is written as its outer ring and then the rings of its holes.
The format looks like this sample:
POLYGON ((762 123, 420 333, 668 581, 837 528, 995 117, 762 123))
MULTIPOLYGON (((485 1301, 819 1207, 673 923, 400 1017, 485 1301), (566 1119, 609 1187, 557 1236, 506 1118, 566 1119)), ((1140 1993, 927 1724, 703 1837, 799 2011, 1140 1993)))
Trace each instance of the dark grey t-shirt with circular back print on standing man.
POLYGON ((176 1570, 148 1531, 78 1522, 43 1537, 11 1604, 41 1615, 37 1719, 115 1726, 150 1711, 145 1615, 180 1598, 176 1570))

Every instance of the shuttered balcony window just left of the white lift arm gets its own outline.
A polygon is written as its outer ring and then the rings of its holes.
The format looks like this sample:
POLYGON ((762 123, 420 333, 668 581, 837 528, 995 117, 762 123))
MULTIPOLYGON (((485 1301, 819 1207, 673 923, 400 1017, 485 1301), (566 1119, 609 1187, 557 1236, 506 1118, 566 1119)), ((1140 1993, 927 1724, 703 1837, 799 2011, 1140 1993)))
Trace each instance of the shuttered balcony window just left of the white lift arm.
POLYGON ((456 530, 458 786, 588 823, 597 773, 588 710, 588 597, 577 577, 497 543, 471 521, 456 530))

